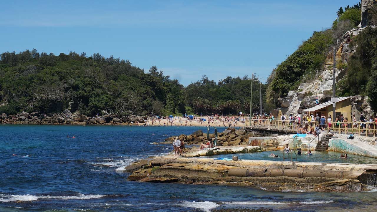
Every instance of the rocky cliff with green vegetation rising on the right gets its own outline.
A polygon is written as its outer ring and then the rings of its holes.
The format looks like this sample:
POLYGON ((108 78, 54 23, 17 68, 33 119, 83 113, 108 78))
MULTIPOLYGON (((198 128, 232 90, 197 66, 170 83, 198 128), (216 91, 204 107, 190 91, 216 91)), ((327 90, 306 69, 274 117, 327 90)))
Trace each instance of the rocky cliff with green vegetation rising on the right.
POLYGON ((376 11, 374 1, 364 0, 344 10, 339 8, 331 29, 314 32, 274 69, 268 81, 267 102, 283 113, 300 113, 313 107, 316 98, 320 103, 329 101, 336 49, 336 95, 353 96, 353 111, 377 111, 376 11), (367 24, 361 27, 360 23, 367 24))

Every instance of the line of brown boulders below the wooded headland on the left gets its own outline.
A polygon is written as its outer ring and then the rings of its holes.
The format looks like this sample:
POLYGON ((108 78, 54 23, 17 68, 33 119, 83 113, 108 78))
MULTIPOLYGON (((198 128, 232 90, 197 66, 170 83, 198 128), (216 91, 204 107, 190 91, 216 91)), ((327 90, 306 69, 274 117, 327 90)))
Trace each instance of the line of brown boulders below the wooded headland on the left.
MULTIPOLYGON (((106 112, 103 111, 104 114, 106 112)), ((129 125, 136 123, 145 123, 148 117, 129 115, 117 117, 116 115, 97 115, 95 117, 87 117, 83 114, 72 114, 68 109, 61 113, 55 113, 52 116, 40 114, 38 112, 7 115, 0 114, 1 124, 71 124, 71 125, 88 125, 88 124, 104 124, 104 125, 129 125)))

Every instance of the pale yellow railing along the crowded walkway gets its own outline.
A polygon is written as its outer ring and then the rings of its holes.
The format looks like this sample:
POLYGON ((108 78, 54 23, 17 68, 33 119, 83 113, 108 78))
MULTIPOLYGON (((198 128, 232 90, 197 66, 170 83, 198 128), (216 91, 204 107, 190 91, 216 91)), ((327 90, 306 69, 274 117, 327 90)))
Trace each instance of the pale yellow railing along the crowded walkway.
MULTIPOLYGON (((262 127, 262 128, 274 128, 274 129, 291 129, 297 130, 300 125, 303 127, 305 124, 313 126, 315 129, 316 125, 319 126, 320 131, 322 128, 317 121, 290 121, 290 120, 270 120, 270 119, 245 119, 245 125, 251 127, 262 127)), ((377 134, 377 123, 370 122, 360 122, 360 121, 347 121, 347 122, 332 122, 331 126, 325 123, 325 128, 327 133, 343 133, 343 134, 358 134, 365 136, 375 137, 377 134), (369 127, 371 129, 369 129, 369 127)))

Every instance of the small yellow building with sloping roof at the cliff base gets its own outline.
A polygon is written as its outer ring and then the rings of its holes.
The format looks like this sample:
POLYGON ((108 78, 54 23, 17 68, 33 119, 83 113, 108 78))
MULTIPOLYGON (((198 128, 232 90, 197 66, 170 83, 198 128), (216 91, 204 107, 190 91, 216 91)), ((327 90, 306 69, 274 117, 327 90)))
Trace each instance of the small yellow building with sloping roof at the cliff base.
MULTIPOLYGON (((347 120, 351 120, 352 105, 349 98, 350 97, 338 97, 338 101, 336 101, 335 106, 336 116, 340 116, 340 114, 343 114, 343 116, 347 118, 347 120)), ((316 114, 318 114, 319 116, 321 116, 321 114, 325 114, 325 117, 328 117, 329 114, 333 116, 333 102, 327 101, 325 103, 314 106, 313 108, 305 109, 302 112, 308 113, 309 115, 313 113, 314 116, 316 114)))

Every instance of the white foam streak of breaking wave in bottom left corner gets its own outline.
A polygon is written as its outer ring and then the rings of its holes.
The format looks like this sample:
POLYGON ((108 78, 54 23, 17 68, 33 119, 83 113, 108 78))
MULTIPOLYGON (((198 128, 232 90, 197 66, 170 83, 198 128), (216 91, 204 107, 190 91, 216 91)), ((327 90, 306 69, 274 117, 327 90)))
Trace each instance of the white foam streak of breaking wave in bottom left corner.
POLYGON ((12 202, 12 201, 37 201, 39 199, 61 199, 61 200, 87 200, 87 199, 95 199, 95 198, 102 198, 106 195, 101 194, 93 194, 93 195, 85 195, 85 194, 78 194, 77 196, 52 196, 52 195, 1 195, 0 202, 12 202))

